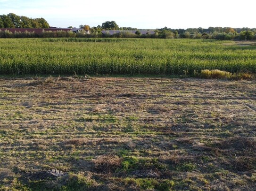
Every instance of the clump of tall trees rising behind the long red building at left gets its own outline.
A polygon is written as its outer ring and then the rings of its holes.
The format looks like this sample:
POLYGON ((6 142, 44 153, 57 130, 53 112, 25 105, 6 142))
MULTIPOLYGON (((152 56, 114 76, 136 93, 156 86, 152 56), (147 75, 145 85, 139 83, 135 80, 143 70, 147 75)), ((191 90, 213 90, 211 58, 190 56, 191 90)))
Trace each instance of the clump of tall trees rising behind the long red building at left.
POLYGON ((49 23, 44 18, 29 18, 26 16, 15 15, 0 15, 0 28, 50 28, 49 23))

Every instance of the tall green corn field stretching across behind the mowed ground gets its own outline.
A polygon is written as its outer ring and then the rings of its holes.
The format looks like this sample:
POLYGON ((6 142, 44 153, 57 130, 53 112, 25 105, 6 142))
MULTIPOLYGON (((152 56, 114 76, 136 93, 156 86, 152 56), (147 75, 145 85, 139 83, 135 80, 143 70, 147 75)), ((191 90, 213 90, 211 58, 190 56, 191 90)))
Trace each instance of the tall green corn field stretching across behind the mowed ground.
POLYGON ((256 46, 203 39, 0 39, 0 75, 256 73, 256 46))

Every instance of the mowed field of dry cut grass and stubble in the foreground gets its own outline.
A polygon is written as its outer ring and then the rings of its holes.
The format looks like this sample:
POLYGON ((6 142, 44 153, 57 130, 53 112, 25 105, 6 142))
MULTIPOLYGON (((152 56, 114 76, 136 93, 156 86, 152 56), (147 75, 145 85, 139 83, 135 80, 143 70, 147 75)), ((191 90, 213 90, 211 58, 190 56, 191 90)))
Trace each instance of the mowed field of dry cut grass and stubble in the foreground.
POLYGON ((2 77, 0 190, 255 191, 255 90, 255 80, 2 77))

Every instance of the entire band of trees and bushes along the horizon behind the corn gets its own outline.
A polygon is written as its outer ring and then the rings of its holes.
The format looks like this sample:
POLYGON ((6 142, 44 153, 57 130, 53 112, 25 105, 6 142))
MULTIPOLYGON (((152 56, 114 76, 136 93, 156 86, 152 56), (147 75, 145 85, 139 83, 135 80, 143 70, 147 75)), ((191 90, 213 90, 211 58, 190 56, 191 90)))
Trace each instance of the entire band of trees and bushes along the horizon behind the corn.
MULTIPOLYGON (((0 28, 50 28, 49 23, 44 18, 28 18, 26 16, 15 15, 9 13, 8 15, 0 15, 0 28)), ((68 28, 73 28, 72 26, 68 28)), ((10 31, 0 31, 0 38, 23 38, 23 37, 116 37, 116 38, 204 38, 204 39, 219 39, 219 40, 256 40, 256 29, 249 28, 231 28, 231 27, 209 27, 203 28, 188 28, 188 29, 171 29, 161 28, 150 30, 146 35, 141 35, 140 30, 132 27, 119 27, 115 21, 106 21, 97 27, 90 27, 89 25, 82 24, 79 28, 85 31, 91 31, 86 34, 80 31, 77 34, 70 32, 45 32, 43 34, 34 34, 26 32, 25 34, 15 33, 10 31), (102 30, 118 30, 112 36, 102 34, 102 30), (136 31, 131 33, 128 31, 136 31), (64 34, 65 33, 65 34, 64 34)))

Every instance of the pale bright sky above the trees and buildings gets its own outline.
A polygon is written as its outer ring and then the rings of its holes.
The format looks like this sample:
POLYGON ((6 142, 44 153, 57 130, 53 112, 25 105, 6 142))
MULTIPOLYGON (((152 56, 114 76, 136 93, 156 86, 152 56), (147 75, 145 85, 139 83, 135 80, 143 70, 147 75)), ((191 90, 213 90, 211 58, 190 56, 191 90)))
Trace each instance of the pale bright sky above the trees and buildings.
POLYGON ((44 18, 54 27, 256 28, 254 0, 0 0, 0 15, 44 18))

